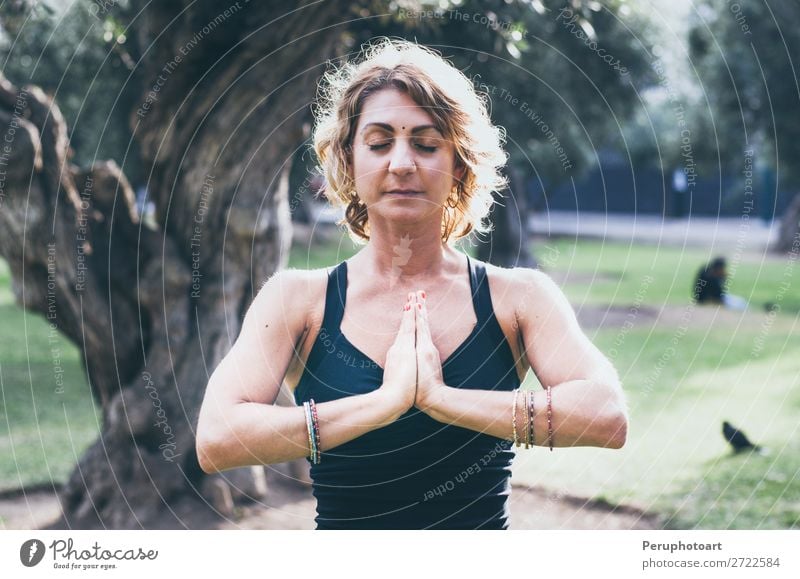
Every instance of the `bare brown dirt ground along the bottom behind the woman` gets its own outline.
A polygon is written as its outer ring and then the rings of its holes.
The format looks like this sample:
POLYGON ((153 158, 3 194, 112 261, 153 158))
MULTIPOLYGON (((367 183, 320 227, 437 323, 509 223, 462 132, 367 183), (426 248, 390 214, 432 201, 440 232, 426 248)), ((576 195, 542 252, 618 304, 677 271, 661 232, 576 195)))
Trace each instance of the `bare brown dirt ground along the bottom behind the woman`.
MULTIPOLYGON (((280 481, 269 484, 266 504, 237 508, 224 529, 313 529, 314 498, 308 489, 280 481)), ((52 490, 5 493, 0 496, 0 529, 37 529, 58 518, 58 499, 52 490)), ((541 488, 513 487, 512 529, 659 529, 653 515, 629 507, 556 495, 541 488)))

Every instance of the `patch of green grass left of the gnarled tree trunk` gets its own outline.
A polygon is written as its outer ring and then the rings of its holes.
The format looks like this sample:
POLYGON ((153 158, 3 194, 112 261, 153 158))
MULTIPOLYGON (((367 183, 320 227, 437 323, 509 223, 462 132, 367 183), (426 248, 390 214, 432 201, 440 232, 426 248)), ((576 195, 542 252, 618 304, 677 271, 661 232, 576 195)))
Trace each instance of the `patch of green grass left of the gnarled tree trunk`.
POLYGON ((0 490, 66 480, 97 437, 78 349, 14 303, 0 260, 0 490))

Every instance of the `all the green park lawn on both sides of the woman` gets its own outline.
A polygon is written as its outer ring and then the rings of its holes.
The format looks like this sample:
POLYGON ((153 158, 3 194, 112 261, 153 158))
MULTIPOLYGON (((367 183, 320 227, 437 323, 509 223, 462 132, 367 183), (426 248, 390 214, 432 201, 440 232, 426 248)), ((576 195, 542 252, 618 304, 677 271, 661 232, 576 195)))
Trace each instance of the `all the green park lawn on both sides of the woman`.
MULTIPOLYGON (((712 257, 702 249, 574 240, 534 247, 576 309, 616 308, 616 319, 586 331, 619 370, 631 429, 618 451, 522 451, 514 482, 635 505, 675 528, 800 527, 800 282, 792 279, 800 272, 794 264, 729 255, 731 293, 757 306, 740 313, 690 306, 694 274, 712 257), (768 315, 761 308, 766 302, 779 311, 768 315), (732 456, 723 420, 768 454, 732 456)), ((290 266, 332 265, 355 251, 346 237, 324 247, 294 247, 290 266)), ((46 320, 13 304, 9 284, 0 262, 0 489, 63 481, 99 428, 77 349, 60 337, 51 341, 46 320), (62 394, 56 393, 54 350, 64 372, 62 394)), ((535 387, 529 378, 526 386, 535 387)))

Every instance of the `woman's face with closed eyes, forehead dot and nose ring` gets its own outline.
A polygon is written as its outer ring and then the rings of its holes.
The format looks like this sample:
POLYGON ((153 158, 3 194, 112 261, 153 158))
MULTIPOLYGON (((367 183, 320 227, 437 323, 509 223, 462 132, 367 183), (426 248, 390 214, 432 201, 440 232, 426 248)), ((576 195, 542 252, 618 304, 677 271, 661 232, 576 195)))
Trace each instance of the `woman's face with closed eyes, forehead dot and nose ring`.
POLYGON ((371 223, 441 219, 453 185, 453 144, 407 94, 384 89, 367 97, 352 147, 356 192, 371 223))

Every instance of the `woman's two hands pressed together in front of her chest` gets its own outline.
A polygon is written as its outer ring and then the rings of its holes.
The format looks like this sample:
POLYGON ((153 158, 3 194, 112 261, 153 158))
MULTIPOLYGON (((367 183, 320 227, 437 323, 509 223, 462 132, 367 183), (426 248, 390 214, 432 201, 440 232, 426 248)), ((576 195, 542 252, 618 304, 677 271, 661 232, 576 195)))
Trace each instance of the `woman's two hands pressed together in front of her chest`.
POLYGON ((408 294, 394 344, 386 353, 383 386, 403 411, 416 406, 425 411, 445 388, 439 350, 431 338, 424 291, 408 294))

